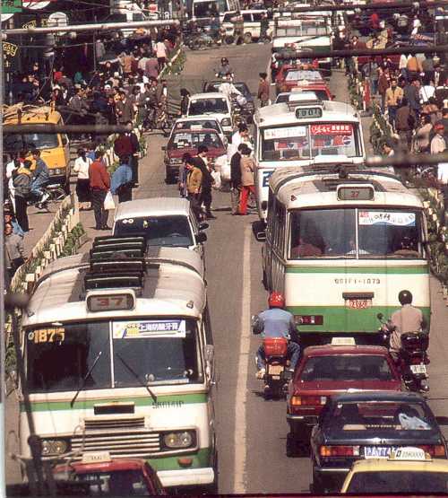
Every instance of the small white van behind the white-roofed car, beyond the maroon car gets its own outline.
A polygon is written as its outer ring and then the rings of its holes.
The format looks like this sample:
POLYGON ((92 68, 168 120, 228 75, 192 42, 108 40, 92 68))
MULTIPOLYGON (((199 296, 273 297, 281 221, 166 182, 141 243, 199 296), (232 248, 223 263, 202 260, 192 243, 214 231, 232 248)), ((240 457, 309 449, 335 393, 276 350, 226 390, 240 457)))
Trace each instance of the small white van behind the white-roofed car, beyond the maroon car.
POLYGON ((233 133, 232 104, 228 97, 220 92, 194 93, 188 103, 186 116, 211 116, 218 118, 220 126, 227 136, 233 133))

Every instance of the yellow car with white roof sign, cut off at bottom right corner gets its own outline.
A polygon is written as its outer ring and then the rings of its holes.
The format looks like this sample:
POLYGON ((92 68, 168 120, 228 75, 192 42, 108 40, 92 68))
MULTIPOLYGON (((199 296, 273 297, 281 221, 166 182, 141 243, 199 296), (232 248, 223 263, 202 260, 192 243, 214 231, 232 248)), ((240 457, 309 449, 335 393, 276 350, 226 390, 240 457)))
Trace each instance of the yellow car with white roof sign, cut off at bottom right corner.
POLYGON ((434 460, 421 448, 395 451, 388 459, 359 460, 353 464, 340 493, 446 494, 448 461, 434 460))

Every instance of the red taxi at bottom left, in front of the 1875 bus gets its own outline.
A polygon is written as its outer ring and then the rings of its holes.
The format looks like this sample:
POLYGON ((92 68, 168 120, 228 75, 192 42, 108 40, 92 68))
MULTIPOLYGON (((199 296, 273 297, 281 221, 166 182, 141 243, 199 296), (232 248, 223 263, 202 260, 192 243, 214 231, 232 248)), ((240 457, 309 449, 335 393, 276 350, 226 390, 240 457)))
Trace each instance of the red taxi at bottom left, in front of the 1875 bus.
POLYGON ((108 452, 84 453, 81 462, 58 465, 55 479, 88 483, 90 496, 167 495, 151 465, 143 459, 111 459, 108 452))

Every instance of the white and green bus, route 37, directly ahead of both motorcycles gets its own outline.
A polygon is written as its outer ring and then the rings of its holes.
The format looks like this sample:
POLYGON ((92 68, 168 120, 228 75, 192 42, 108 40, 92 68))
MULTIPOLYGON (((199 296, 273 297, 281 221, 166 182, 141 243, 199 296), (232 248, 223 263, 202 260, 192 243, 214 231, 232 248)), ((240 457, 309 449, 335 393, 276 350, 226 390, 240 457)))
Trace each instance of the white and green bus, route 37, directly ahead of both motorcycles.
POLYGON ((285 294, 302 338, 375 343, 376 315, 400 308, 403 289, 429 323, 425 214, 400 179, 309 166, 275 171, 269 188, 263 282, 285 294))

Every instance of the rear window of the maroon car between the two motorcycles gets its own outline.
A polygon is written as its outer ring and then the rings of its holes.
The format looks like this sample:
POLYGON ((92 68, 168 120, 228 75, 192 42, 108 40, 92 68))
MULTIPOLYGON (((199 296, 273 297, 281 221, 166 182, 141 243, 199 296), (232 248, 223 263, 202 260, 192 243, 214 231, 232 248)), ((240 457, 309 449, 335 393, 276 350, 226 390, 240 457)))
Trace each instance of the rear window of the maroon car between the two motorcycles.
POLYGON ((389 363, 380 355, 312 356, 300 373, 300 380, 392 380, 389 363))

